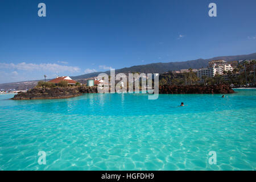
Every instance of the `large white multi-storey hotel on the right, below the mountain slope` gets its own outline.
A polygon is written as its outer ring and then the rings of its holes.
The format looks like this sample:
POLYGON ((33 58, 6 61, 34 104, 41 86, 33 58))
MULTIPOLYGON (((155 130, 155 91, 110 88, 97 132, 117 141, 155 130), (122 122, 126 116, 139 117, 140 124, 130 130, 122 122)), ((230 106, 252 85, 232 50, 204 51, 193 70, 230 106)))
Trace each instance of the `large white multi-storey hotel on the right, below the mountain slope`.
POLYGON ((223 71, 233 71, 230 64, 226 64, 224 60, 213 60, 209 62, 208 68, 201 68, 197 71, 197 77, 203 80, 203 76, 214 77, 216 74, 223 75, 223 71))

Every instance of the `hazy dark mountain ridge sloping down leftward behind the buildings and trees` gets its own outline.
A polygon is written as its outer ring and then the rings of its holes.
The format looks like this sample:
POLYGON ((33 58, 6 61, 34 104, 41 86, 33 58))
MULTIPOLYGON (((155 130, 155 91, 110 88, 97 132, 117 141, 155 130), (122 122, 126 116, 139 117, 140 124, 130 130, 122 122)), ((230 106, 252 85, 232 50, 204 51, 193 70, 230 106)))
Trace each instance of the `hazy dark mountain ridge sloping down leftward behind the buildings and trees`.
MULTIPOLYGON (((180 61, 180 62, 170 62, 170 63, 152 63, 145 65, 135 65, 129 68, 121 68, 115 69, 115 73, 164 73, 168 71, 175 71, 180 69, 199 69, 208 66, 208 62, 212 60, 225 60, 225 61, 236 61, 236 60, 247 60, 247 59, 256 59, 256 53, 251 53, 249 55, 237 55, 237 56, 219 56, 213 57, 211 59, 197 59, 197 60, 189 60, 189 61, 180 61)), ((92 78, 98 76, 102 72, 94 72, 88 73, 85 75, 79 76, 71 76, 73 80, 79 80, 80 82, 84 82, 83 80, 86 78, 92 78)), ((110 71, 104 72, 106 74, 110 74, 110 71)), ((0 89, 16 89, 16 90, 24 90, 33 88, 39 80, 35 81, 23 81, 23 82, 14 82, 7 84, 0 84, 0 89)))

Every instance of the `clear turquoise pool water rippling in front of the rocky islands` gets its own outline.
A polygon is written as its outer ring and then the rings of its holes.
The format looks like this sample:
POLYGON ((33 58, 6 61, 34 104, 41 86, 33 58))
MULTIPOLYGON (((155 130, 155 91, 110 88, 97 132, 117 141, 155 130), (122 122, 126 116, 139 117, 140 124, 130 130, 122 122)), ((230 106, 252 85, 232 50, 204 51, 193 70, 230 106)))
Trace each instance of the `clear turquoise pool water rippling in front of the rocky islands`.
POLYGON ((158 100, 1 95, 0 170, 255 170, 256 89, 236 92, 158 100), (46 165, 38 164, 39 151, 46 152, 46 165), (216 151, 216 165, 209 164, 209 151, 216 151))

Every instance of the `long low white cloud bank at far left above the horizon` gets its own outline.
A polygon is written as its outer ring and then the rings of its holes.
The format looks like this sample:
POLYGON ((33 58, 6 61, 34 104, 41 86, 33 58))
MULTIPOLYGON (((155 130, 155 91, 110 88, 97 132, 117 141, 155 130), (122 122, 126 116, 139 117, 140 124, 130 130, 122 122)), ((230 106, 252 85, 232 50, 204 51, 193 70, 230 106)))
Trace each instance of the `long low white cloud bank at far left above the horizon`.
POLYGON ((59 64, 33 64, 33 63, 18 63, 18 64, 7 64, 7 63, 0 63, 0 68, 4 69, 19 69, 24 71, 50 71, 50 72, 79 72, 80 68, 78 67, 69 67, 66 65, 59 65, 59 64))

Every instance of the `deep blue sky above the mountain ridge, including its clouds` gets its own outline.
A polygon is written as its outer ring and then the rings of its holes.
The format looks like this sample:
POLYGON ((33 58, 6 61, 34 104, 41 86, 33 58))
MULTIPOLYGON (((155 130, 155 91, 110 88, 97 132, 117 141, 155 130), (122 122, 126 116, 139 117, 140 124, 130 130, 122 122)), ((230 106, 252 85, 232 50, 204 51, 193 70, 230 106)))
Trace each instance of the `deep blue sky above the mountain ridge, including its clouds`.
POLYGON ((255 0, 1 0, 0 83, 253 53, 255 18, 255 0))

